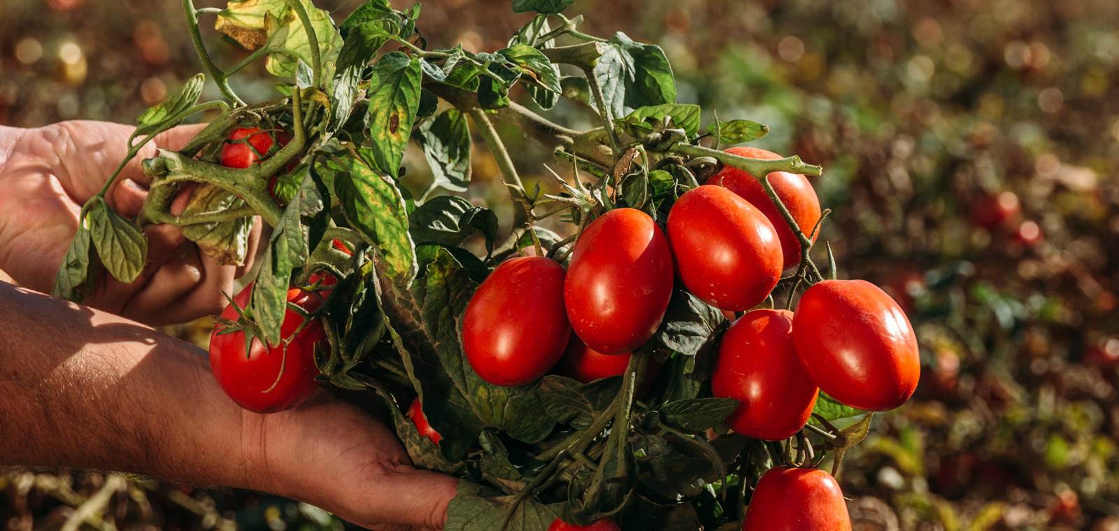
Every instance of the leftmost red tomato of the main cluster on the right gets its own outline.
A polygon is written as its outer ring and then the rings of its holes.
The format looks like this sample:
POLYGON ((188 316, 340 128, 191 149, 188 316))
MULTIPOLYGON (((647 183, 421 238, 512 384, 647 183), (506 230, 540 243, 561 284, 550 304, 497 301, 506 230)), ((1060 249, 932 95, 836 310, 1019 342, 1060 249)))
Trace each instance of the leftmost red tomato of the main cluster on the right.
POLYGON ((563 282, 544 257, 506 260, 482 281, 462 316, 462 350, 482 380, 524 385, 556 364, 571 334, 563 282))

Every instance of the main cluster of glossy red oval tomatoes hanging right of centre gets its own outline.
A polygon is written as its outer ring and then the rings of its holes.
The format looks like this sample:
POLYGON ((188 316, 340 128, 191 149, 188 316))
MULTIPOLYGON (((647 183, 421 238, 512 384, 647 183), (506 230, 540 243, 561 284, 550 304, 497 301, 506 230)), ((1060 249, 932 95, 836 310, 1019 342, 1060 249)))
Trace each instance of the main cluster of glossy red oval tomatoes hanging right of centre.
MULTIPOLYGON (((800 231, 815 237, 820 206, 805 177, 774 173, 769 181, 800 231)), ((462 322, 474 372, 498 385, 527 384, 557 362, 581 382, 621 374, 628 354, 660 325, 675 277, 715 308, 751 310, 721 339, 712 376, 715 397, 740 401, 726 419, 736 432, 791 437, 820 390, 869 411, 904 403, 920 363, 899 305, 862 280, 824 280, 805 291, 796 313, 755 309, 782 270, 800 263, 800 241, 750 174, 725 167, 708 183, 676 199, 667 237, 648 214, 617 208, 583 230, 566 273, 543 257, 498 266, 462 322)))

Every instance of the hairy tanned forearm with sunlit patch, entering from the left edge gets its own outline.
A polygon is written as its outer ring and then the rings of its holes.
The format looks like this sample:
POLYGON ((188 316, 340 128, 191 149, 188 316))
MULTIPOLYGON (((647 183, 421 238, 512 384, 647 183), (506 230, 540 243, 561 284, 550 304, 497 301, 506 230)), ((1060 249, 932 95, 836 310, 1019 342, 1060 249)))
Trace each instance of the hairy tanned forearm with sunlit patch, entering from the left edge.
POLYGON ((0 283, 0 465, 252 487, 243 416, 201 352, 0 283))

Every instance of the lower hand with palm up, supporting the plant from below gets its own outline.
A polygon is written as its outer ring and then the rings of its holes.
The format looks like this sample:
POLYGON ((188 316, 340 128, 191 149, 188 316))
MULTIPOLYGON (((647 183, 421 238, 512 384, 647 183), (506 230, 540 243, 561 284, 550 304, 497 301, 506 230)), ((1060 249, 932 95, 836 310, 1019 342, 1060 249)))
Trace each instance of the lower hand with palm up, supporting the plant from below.
POLYGON ((378 531, 443 529, 458 481, 419 471, 396 436, 320 390, 279 413, 244 412, 253 488, 326 509, 378 531))

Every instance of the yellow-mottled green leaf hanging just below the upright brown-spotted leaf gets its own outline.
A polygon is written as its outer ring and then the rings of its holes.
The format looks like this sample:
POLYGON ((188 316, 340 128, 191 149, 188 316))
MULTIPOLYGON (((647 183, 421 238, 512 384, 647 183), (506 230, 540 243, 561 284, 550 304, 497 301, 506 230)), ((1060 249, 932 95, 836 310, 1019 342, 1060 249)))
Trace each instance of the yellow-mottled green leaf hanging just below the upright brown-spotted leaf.
POLYGON ((336 174, 335 195, 341 202, 346 218, 377 249, 389 278, 411 281, 416 266, 401 190, 388 176, 356 157, 347 157, 340 164, 331 160, 323 170, 336 174))

